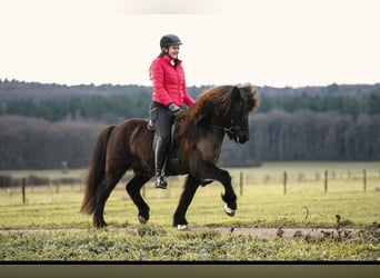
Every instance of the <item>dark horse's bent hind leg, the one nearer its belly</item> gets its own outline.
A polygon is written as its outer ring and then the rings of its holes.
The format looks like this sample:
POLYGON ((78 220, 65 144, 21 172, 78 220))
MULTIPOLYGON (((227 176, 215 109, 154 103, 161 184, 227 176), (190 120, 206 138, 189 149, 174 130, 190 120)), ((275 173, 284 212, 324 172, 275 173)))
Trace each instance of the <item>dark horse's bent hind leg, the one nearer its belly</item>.
POLYGON ((127 192, 139 209, 138 219, 140 224, 147 224, 149 220, 149 206, 142 199, 140 190, 150 178, 151 177, 134 176, 126 186, 127 192))

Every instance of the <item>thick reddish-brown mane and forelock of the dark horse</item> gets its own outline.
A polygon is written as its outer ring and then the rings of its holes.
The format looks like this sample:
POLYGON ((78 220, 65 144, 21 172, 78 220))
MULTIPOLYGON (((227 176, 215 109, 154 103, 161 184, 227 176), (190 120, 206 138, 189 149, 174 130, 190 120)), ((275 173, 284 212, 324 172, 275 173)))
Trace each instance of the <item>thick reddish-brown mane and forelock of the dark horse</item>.
POLYGON ((241 98, 247 103, 249 111, 259 107, 259 97, 254 87, 247 83, 241 87, 220 86, 203 91, 196 105, 178 116, 178 137, 186 137, 186 147, 193 146, 199 136, 209 130, 209 125, 213 118, 228 115, 232 105, 232 91, 240 89, 241 98))

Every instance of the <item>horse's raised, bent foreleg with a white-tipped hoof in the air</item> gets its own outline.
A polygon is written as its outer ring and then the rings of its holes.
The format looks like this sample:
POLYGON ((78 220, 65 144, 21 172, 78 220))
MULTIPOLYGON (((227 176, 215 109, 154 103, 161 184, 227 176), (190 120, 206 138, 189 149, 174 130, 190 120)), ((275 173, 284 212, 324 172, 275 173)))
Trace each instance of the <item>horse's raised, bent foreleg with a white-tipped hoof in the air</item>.
POLYGON ((231 176, 228 171, 218 168, 217 166, 204 161, 201 165, 198 165, 198 178, 199 179, 214 179, 218 180, 224 187, 224 195, 222 195, 222 200, 226 202, 224 212, 228 216, 234 216, 236 210, 238 209, 237 205, 237 195, 234 193, 231 176))

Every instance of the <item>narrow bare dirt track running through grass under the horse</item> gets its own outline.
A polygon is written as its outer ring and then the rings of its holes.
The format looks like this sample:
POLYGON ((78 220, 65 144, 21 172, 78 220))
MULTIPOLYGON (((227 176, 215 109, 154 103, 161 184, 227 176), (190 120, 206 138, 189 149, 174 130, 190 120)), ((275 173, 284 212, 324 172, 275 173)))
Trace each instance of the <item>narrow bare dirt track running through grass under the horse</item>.
MULTIPOLYGON (((119 232, 138 232, 137 229, 129 229, 129 228, 107 228, 110 231, 119 231, 119 232)), ((2 229, 0 234, 6 232, 76 232, 76 231, 88 231, 88 229, 2 229)), ((332 228, 221 228, 221 227, 213 227, 213 228, 190 228, 190 231, 194 232, 204 232, 204 231, 214 231, 221 235, 227 235, 230 232, 233 234, 242 234, 242 235, 251 235, 253 237, 259 238, 296 238, 296 237, 306 237, 310 236, 321 237, 321 236, 337 236, 337 229, 332 228)), ((344 232, 348 234, 356 234, 358 229, 344 229, 344 232)))

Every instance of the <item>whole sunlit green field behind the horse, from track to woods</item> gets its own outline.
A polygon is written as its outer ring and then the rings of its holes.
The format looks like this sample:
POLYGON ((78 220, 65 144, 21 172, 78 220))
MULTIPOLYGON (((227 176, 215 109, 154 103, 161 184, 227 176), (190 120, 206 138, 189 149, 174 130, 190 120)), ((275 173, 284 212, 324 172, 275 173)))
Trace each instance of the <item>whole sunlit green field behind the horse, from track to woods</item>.
MULTIPOLYGON (((379 162, 293 162, 266 163, 260 168, 230 169, 238 195, 238 211, 229 218, 222 211, 219 182, 200 188, 189 207, 188 220, 192 226, 243 227, 333 227, 336 215, 353 227, 362 227, 380 219, 379 162), (316 172, 329 169, 336 178, 329 180, 324 192, 323 178, 312 178, 316 172), (362 169, 367 170, 367 190, 363 190, 362 169), (288 172, 287 193, 283 193, 281 172, 288 172), (350 178, 343 176, 350 171, 350 178), (242 195, 240 172, 243 173, 242 195), (268 178, 270 177, 270 178, 268 178), (292 178, 294 177, 294 178, 292 178), (302 179, 299 179, 302 177, 302 179)), ((30 173, 17 171, 12 177, 30 173)), ((54 177, 60 171, 37 171, 38 176, 54 177)), ((70 177, 86 177, 84 170, 71 170, 70 177)), ((323 176, 321 176, 323 177, 323 176)), ((143 195, 151 207, 154 225, 171 226, 172 215, 182 190, 183 177, 169 179, 169 190, 157 190, 153 182, 146 185, 143 195)), ((22 203, 21 188, 0 190, 0 228, 83 228, 91 227, 91 217, 79 214, 83 185, 41 186, 26 189, 27 203, 22 203)), ((138 225, 137 208, 119 183, 106 205, 106 220, 113 226, 138 225)))

